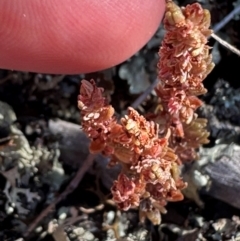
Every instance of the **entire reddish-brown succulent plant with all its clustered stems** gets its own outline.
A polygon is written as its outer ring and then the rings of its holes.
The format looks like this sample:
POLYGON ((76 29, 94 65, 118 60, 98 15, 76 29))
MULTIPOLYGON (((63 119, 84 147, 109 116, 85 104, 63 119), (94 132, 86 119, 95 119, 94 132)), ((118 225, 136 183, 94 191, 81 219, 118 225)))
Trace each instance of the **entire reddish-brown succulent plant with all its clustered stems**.
POLYGON ((140 219, 161 222, 168 201, 183 199, 186 183, 180 165, 194 160, 195 149, 208 142, 206 120, 197 117, 204 94, 202 81, 212 70, 207 38, 210 14, 197 3, 179 8, 166 3, 165 38, 159 51, 159 104, 148 119, 133 108, 118 121, 94 80, 83 80, 78 106, 90 152, 111 158, 122 171, 111 188, 121 210, 139 208, 140 219))

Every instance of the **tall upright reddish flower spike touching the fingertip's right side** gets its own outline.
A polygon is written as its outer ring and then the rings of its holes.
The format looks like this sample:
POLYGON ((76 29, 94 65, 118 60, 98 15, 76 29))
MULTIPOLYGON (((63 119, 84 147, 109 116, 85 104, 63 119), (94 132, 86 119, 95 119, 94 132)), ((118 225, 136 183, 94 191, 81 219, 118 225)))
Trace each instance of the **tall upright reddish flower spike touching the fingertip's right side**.
POLYGON ((197 96, 206 93, 202 82, 214 67, 207 46, 209 26, 210 13, 198 3, 180 8, 167 1, 156 88, 158 121, 171 128, 170 146, 181 161, 195 159, 195 149, 208 143, 207 121, 195 111, 202 105, 197 96))

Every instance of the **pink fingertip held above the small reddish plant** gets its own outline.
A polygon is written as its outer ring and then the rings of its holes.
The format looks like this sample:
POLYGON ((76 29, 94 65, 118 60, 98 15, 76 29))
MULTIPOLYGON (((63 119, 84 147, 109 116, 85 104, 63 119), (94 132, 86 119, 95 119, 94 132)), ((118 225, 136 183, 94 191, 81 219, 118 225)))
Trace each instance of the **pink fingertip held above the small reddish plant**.
POLYGON ((0 68, 76 74, 117 65, 157 30, 164 0, 1 0, 0 68))

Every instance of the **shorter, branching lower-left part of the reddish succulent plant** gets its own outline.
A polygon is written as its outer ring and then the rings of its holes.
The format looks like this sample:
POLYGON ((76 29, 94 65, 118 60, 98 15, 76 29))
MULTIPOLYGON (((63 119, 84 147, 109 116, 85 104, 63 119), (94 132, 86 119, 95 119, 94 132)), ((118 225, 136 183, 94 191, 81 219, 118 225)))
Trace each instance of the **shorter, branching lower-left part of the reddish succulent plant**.
POLYGON ((93 80, 82 81, 78 106, 90 151, 109 156, 110 165, 122 165, 111 190, 115 203, 122 210, 140 207, 141 219, 159 224, 166 202, 182 200, 180 190, 186 186, 179 177, 177 156, 168 147, 170 133, 159 138, 158 124, 132 108, 117 123, 113 107, 93 80))

